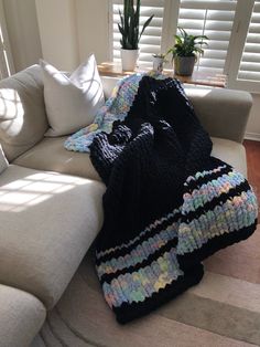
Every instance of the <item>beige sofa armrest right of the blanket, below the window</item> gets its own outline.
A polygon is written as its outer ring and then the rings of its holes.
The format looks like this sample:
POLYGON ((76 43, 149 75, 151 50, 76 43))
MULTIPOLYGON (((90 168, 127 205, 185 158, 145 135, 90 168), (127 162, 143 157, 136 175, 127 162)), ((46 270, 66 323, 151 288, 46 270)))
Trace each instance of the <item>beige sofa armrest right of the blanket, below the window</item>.
POLYGON ((252 97, 226 88, 185 86, 195 113, 210 136, 242 143, 252 97))

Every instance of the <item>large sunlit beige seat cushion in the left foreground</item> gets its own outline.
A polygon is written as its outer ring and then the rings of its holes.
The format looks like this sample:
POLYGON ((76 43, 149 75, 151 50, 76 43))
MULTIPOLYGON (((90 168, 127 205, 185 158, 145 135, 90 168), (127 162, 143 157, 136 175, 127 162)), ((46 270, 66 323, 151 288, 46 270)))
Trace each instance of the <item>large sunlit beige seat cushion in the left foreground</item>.
POLYGON ((102 223, 100 182, 9 166, 0 176, 0 283, 52 308, 102 223))

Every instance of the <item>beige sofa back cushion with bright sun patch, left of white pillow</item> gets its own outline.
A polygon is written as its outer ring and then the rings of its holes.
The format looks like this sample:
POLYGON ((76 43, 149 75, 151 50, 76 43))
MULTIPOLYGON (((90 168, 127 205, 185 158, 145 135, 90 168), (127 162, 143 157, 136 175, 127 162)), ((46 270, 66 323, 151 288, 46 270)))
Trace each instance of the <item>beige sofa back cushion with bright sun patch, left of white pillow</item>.
POLYGON ((0 143, 9 161, 39 143, 47 127, 39 65, 0 81, 0 143))

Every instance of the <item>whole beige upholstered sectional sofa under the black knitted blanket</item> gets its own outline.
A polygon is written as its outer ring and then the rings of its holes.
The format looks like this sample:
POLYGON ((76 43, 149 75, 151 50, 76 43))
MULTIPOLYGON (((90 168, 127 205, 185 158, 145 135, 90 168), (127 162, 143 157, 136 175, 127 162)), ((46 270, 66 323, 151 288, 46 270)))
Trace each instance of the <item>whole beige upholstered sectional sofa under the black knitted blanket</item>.
MULTIPOLYGON (((102 77, 108 96, 116 78, 102 77)), ((252 104, 246 92, 186 86, 213 137, 213 155, 247 175, 241 144, 252 104)), ((63 295, 102 223, 105 186, 89 155, 47 138, 37 65, 0 82, 0 345, 29 346, 63 295), (4 313, 4 314, 2 314, 4 313)))

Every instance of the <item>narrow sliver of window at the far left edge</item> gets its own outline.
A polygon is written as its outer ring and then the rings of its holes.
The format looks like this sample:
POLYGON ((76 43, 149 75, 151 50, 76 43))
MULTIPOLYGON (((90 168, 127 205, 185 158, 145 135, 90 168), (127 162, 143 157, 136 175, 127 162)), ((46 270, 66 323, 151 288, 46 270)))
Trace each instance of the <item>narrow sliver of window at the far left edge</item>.
POLYGON ((13 73, 13 64, 9 49, 6 19, 3 15, 3 4, 0 0, 0 80, 6 78, 13 73))

